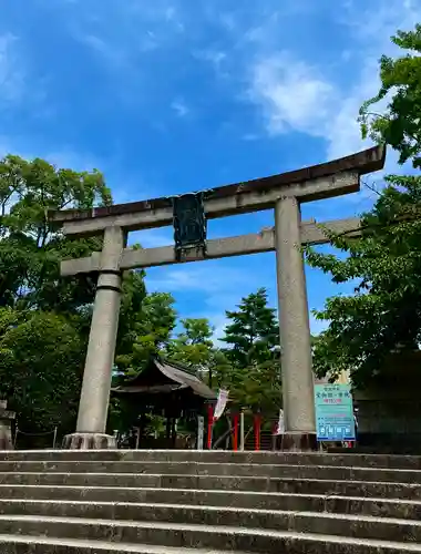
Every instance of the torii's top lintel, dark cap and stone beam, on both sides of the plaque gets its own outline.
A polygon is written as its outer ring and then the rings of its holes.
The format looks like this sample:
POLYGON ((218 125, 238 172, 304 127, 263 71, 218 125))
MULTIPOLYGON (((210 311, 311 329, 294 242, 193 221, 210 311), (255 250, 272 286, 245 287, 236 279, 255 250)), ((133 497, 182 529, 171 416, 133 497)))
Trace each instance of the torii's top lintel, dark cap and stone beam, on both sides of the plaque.
MULTIPOLYGON (((205 214, 210 219, 267 209, 280 196, 310 202, 357 192, 360 176, 381 170, 384 160, 386 147, 374 146, 324 164, 213 188, 206 194, 205 214)), ((68 235, 95 235, 112 225, 136 230, 171 225, 172 206, 171 197, 161 197, 89 211, 54 211, 49 220, 68 235)))

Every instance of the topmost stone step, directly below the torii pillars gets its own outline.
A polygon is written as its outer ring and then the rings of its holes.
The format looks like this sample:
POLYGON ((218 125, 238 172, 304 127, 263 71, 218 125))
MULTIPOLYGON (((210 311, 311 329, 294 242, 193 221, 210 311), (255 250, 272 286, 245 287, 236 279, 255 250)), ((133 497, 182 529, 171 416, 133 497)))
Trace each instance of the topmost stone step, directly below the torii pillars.
POLYGON ((223 450, 29 450, 3 451, 0 460, 9 461, 137 461, 347 465, 421 470, 421 456, 390 454, 328 454, 285 452, 229 452, 223 450))

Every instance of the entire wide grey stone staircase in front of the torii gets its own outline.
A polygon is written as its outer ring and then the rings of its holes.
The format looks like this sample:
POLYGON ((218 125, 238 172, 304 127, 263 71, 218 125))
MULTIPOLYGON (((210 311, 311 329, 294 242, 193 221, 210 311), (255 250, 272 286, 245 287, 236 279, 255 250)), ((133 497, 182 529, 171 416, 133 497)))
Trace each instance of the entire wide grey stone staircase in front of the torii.
POLYGON ((0 452, 0 554, 421 553, 421 458, 0 452))

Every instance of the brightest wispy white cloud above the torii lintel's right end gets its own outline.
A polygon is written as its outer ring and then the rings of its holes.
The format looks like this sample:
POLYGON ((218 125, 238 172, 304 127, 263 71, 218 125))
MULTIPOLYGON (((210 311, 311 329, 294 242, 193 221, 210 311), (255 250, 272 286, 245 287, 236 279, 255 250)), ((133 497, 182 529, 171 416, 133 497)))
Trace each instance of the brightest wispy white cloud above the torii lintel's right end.
POLYGON ((280 52, 256 62, 250 99, 263 110, 269 135, 298 131, 327 142, 327 158, 362 147, 358 110, 378 90, 378 70, 367 64, 346 94, 322 70, 280 52))

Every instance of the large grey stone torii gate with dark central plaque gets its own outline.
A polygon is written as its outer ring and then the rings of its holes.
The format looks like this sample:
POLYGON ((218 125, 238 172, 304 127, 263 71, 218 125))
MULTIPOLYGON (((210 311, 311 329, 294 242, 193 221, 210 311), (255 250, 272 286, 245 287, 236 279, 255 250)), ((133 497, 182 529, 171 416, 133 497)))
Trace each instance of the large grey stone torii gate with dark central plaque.
MULTIPOLYGON (((376 146, 351 156, 198 194, 117 204, 90 211, 49 214, 68 236, 103 235, 102 252, 63 260, 62 275, 99 273, 75 433, 64 448, 115 448, 105 434, 117 334, 122 273, 170 264, 276 250, 284 448, 316 447, 310 327, 301 244, 328 243, 316 222, 301 222, 300 204, 353 193, 360 176, 381 170, 386 150, 376 146), (206 219, 274 208, 275 227, 260 233, 206 239, 206 219), (129 232, 174 225, 175 246, 127 248, 129 232)), ((332 232, 358 229, 359 219, 321 224, 332 232)))

